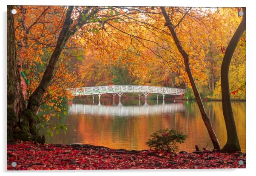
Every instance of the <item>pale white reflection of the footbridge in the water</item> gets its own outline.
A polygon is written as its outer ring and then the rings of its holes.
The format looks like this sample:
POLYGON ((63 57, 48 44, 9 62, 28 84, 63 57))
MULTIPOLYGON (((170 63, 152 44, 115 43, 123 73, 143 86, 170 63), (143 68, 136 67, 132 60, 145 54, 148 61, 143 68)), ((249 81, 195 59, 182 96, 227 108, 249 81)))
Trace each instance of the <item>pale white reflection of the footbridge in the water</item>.
POLYGON ((94 104, 73 104, 69 113, 83 115, 105 115, 105 116, 139 116, 139 115, 155 115, 159 113, 185 112, 183 103, 156 104, 143 106, 105 106, 94 104))

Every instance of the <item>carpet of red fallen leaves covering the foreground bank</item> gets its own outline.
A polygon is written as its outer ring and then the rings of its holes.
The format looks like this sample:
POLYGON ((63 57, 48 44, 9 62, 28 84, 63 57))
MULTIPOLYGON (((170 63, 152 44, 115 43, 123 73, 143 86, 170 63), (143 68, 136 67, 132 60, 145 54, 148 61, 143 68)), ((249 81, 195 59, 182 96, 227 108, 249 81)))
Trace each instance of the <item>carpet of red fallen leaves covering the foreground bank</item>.
POLYGON ((7 145, 7 170, 245 168, 245 154, 170 154, 153 150, 115 150, 93 145, 7 145), (243 165, 238 162, 242 160, 243 165), (17 166, 12 167, 11 163, 17 166))

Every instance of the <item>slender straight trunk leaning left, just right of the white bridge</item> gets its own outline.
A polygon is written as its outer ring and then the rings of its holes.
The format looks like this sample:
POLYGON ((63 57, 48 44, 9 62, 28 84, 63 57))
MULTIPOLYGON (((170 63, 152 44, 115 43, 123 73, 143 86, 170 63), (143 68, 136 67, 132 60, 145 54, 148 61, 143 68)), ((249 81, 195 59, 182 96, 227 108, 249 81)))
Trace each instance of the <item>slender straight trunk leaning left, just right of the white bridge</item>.
POLYGON ((205 123, 205 126, 206 126, 206 128, 208 130, 208 133, 210 135, 210 139, 211 139, 211 141, 213 143, 213 148, 216 149, 216 150, 220 150, 219 141, 218 141, 218 139, 216 137, 215 132, 213 131, 213 127, 212 127, 212 125, 210 123, 210 119, 209 119, 209 117, 207 116, 207 114, 205 112, 205 108, 204 108, 204 105, 202 103, 201 96, 200 96, 200 94, 198 92, 198 89, 196 87, 196 82, 195 82, 195 80, 193 78, 193 75, 192 75, 192 72, 191 72, 191 68, 190 68, 190 65, 189 65, 189 56, 185 52, 185 50, 183 49, 181 43, 179 42, 179 39, 178 39, 178 36, 176 34, 174 25, 171 22, 167 12, 165 11, 165 7, 161 7, 161 10, 162 10, 162 13, 163 13, 163 15, 165 17, 165 26, 168 26, 169 30, 171 31, 171 35, 172 35, 172 37, 174 39, 176 47, 178 48, 179 53, 182 55, 182 57, 184 59, 185 70, 186 70, 186 72, 188 74, 189 81, 191 83, 194 95, 196 97, 196 101, 197 101, 197 104, 199 106, 199 109, 200 109, 200 112, 201 112, 201 115, 202 115, 202 119, 203 119, 203 121, 205 123))

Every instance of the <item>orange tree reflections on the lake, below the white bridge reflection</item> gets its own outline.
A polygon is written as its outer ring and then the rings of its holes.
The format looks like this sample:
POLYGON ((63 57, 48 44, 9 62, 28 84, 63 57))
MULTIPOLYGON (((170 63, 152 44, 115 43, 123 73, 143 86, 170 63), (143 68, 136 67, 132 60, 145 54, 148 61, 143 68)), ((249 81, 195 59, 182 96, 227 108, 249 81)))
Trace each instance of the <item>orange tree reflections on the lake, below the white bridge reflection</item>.
MULTIPOLYGON (((205 110, 210 115, 213 128, 219 137, 219 142, 223 146, 226 136, 221 102, 204 103, 205 110)), ((165 105, 168 104, 165 103, 165 105)), ((185 101, 184 106, 185 112, 167 112, 132 117, 68 114, 65 123, 74 125, 76 131, 70 127, 67 135, 56 135, 52 141, 54 143, 82 142, 117 149, 142 150, 147 148, 145 142, 153 132, 169 128, 188 134, 188 139, 180 145, 180 150, 193 151, 195 145, 199 145, 200 148, 206 146, 210 138, 206 135, 207 130, 196 102, 188 101, 187 103, 185 101)), ((245 150, 245 102, 233 102, 232 106, 241 148, 245 150)), ((212 148, 212 144, 209 143, 209 145, 212 148)))

